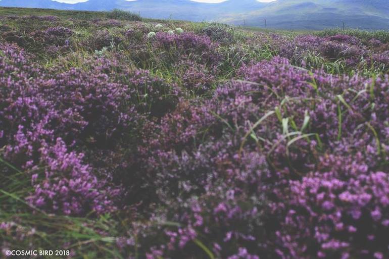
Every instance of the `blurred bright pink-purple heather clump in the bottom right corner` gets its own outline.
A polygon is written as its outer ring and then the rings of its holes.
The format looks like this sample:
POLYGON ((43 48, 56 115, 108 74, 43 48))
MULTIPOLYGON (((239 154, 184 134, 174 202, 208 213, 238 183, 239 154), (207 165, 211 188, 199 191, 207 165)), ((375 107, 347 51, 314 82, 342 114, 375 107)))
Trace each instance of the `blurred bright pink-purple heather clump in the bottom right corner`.
POLYGON ((384 216, 389 204, 387 172, 370 171, 355 159, 361 154, 323 158, 328 171, 290 182, 290 200, 279 207, 283 210, 288 204, 282 231, 276 233, 285 246, 277 251, 281 258, 388 256, 387 243, 382 242, 389 223, 384 216))

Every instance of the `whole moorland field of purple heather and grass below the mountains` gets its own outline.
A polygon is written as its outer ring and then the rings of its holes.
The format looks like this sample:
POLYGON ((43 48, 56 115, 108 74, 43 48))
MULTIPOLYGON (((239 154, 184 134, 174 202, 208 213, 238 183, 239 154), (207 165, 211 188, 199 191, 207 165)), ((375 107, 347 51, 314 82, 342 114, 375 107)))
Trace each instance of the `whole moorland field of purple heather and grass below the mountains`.
POLYGON ((389 258, 385 34, 67 17, 1 21, 2 248, 389 258))

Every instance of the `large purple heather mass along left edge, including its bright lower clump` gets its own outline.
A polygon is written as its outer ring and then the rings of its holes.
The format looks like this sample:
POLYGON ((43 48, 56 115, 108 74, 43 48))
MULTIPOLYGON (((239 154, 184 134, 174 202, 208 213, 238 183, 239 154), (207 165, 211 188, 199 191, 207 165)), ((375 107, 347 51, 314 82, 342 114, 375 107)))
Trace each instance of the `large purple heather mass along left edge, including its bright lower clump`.
POLYGON ((90 62, 87 72, 52 71, 53 77, 18 47, 0 49, 5 54, 0 57, 0 144, 7 160, 32 175, 35 192, 28 200, 57 213, 112 211, 118 188, 98 179, 112 178, 110 168, 93 168, 94 162, 102 163, 99 158, 83 164, 83 157, 110 155, 107 150, 120 148, 142 116, 174 109, 178 91, 147 71, 129 71, 107 60, 90 62))

